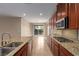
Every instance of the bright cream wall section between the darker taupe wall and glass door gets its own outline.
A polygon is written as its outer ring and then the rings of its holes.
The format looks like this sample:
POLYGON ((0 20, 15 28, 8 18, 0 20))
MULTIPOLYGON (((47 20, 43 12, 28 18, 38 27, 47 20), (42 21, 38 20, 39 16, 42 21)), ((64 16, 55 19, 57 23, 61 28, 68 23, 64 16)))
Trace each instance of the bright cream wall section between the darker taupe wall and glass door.
POLYGON ((31 23, 29 23, 26 19, 21 19, 21 36, 32 36, 31 32, 31 23))

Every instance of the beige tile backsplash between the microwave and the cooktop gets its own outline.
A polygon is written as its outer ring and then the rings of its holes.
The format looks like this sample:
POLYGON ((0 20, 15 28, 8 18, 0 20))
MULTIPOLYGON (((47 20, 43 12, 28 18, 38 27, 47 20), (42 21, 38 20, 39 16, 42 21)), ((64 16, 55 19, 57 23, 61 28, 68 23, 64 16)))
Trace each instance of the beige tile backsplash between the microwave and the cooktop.
POLYGON ((53 34, 59 35, 61 37, 65 37, 71 40, 79 39, 79 30, 74 29, 65 29, 65 30, 54 30, 53 34))

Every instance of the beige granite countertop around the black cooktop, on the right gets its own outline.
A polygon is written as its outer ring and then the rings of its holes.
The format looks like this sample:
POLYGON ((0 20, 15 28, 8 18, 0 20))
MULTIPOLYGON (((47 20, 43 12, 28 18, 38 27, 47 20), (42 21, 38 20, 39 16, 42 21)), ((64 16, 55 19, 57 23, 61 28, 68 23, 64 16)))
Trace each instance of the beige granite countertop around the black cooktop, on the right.
POLYGON ((54 40, 58 42, 61 46, 63 46, 65 49, 67 49, 74 56, 79 56, 79 42, 59 42, 56 39, 54 40))

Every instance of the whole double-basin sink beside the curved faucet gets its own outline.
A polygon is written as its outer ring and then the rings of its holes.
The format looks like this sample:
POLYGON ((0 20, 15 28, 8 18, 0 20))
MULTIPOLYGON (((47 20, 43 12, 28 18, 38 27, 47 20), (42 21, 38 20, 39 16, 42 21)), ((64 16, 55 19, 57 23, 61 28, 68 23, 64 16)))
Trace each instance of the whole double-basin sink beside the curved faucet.
POLYGON ((9 54, 11 51, 13 51, 16 47, 18 47, 22 43, 23 42, 12 42, 3 47, 0 47, 0 56, 5 56, 5 55, 9 54))

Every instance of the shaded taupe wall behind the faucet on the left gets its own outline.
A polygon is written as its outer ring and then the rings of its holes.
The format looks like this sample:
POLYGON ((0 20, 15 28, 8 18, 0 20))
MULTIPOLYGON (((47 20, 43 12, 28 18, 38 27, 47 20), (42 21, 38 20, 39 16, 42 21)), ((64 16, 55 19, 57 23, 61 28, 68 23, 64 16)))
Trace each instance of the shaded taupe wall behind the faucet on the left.
POLYGON ((11 35, 11 39, 9 39, 8 35, 5 35, 4 40, 14 41, 18 38, 20 40, 21 18, 12 16, 0 16, 0 43, 2 39, 2 33, 9 33, 11 35))

